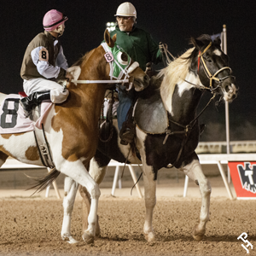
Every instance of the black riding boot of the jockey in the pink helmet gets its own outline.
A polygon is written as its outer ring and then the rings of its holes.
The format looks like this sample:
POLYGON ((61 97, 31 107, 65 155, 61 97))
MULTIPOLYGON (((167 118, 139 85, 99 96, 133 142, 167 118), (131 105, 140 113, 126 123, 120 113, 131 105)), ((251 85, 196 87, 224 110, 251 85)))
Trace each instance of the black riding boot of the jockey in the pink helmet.
POLYGON ((24 109, 26 118, 29 117, 32 113, 32 109, 36 108, 41 102, 50 101, 50 92, 49 90, 45 91, 36 91, 31 95, 26 96, 20 100, 20 105, 24 109))

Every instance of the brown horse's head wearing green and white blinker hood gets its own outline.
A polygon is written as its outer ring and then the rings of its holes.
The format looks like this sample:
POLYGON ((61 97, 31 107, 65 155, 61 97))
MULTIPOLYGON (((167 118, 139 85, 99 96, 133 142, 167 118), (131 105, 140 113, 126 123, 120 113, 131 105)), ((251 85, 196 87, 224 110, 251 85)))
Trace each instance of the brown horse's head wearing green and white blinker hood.
POLYGON ((110 79, 123 80, 124 82, 119 83, 127 84, 127 90, 131 90, 132 85, 137 91, 148 87, 148 75, 139 67, 137 61, 132 61, 125 50, 115 44, 116 34, 111 38, 106 29, 104 39, 106 43, 102 43, 102 47, 106 51, 105 59, 109 62, 110 79))

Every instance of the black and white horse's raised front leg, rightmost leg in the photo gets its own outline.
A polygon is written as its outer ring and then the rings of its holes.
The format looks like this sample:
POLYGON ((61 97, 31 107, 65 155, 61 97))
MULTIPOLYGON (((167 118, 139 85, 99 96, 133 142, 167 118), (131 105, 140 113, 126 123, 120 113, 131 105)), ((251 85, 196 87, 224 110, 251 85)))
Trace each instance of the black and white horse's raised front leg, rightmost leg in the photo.
POLYGON ((192 232, 194 239, 201 241, 206 233, 206 225, 209 220, 210 195, 212 192, 211 184, 203 174, 199 160, 192 160, 191 163, 183 166, 181 170, 199 185, 201 191, 200 220, 192 232))

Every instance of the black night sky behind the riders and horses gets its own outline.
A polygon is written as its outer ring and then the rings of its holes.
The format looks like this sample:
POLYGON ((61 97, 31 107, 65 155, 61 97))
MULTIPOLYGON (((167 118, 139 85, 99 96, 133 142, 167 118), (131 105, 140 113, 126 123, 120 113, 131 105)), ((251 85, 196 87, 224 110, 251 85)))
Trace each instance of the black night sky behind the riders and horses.
MULTIPOLYGON (((123 1, 1 1, 0 91, 22 90, 20 66, 27 44, 43 32, 42 20, 49 9, 64 12, 68 20, 61 37, 69 66, 85 52, 101 44, 108 21, 114 21, 116 9, 123 1)), ((137 26, 150 32, 154 40, 168 44, 172 55, 189 49, 189 38, 222 32, 227 26, 230 67, 236 76, 239 95, 230 104, 230 139, 256 139, 255 95, 255 8, 253 1, 158 0, 133 1, 137 9, 137 26), (255 128, 255 129, 254 129, 255 128)), ((156 67, 156 68, 160 68, 156 67)), ((201 108, 211 97, 206 93, 201 108)), ((225 140, 224 104, 211 104, 201 122, 207 124, 205 140, 225 140)), ((204 139, 203 139, 204 140, 204 139)))

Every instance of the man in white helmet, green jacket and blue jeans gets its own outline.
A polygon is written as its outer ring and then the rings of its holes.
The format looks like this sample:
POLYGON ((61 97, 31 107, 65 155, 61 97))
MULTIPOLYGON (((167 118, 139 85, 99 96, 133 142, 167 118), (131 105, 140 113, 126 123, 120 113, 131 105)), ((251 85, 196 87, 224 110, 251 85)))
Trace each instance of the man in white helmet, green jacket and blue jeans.
MULTIPOLYGON (((148 62, 157 64, 162 61, 158 44, 154 42, 148 32, 135 26, 137 23, 137 11, 133 4, 129 2, 120 4, 114 16, 116 16, 117 26, 110 35, 113 37, 114 34, 117 34, 116 44, 122 47, 133 61, 137 61, 143 70, 146 70, 148 62)), ((135 127, 132 120, 128 118, 125 122, 135 94, 134 89, 127 92, 123 86, 119 86, 119 137, 121 138, 121 143, 125 145, 131 143, 135 136, 134 132, 132 132, 135 130, 131 129, 131 126, 135 127)))

